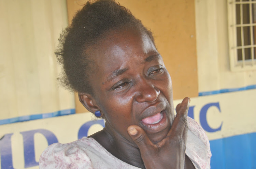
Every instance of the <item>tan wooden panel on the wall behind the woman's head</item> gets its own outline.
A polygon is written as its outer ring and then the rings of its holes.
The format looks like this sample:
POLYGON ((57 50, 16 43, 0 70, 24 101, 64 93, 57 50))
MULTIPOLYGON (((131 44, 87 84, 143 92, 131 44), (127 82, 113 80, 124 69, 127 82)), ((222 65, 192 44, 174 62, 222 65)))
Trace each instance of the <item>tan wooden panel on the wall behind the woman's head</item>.
MULTIPOLYGON (((193 0, 119 0, 132 14, 150 28, 158 51, 172 77, 173 97, 198 96, 193 0)), ((85 0, 67 0, 69 22, 85 0)), ((77 97, 76 97, 77 98, 77 97)), ((76 99, 76 105, 77 104, 76 99)), ((77 112, 84 109, 77 107, 77 112)))

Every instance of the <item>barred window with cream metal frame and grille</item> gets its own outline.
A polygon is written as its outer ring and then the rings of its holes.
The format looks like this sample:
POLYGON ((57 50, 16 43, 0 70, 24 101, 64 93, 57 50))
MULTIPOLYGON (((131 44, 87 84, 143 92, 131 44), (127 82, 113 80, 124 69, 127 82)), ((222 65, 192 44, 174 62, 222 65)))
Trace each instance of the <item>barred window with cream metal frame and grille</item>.
POLYGON ((256 0, 228 0, 231 71, 256 69, 256 0))

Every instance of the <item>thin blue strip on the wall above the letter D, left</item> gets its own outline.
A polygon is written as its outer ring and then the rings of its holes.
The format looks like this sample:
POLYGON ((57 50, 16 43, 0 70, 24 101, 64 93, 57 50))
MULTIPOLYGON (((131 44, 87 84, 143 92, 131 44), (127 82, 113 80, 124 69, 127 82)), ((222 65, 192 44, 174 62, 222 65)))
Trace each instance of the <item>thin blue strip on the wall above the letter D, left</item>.
POLYGON ((59 110, 52 113, 43 113, 43 114, 33 114, 28 116, 20 116, 8 119, 0 120, 0 125, 10 124, 10 123, 17 123, 22 121, 29 121, 29 120, 36 120, 42 118, 50 118, 50 117, 57 117, 63 115, 75 114, 75 109, 66 109, 66 110, 59 110))

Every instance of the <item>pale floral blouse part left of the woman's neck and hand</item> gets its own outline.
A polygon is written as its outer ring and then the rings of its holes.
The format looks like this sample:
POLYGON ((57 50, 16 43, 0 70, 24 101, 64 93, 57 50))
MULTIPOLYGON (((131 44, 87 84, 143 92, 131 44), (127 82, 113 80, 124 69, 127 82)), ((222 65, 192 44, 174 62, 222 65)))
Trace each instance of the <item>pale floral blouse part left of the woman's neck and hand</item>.
POLYGON ((113 156, 94 138, 83 137, 68 144, 55 143, 47 147, 39 159, 39 168, 105 169, 137 168, 113 156))

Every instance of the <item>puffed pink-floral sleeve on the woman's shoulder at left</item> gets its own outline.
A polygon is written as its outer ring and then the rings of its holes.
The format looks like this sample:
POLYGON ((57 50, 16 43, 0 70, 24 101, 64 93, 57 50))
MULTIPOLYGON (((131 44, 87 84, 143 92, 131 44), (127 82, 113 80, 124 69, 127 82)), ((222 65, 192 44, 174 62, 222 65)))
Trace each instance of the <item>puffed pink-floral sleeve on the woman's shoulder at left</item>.
POLYGON ((40 156, 39 168, 92 168, 92 163, 81 144, 89 142, 87 137, 68 144, 54 143, 40 156))

